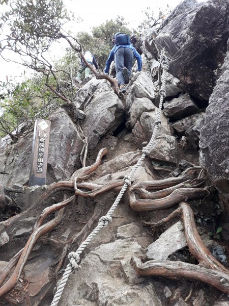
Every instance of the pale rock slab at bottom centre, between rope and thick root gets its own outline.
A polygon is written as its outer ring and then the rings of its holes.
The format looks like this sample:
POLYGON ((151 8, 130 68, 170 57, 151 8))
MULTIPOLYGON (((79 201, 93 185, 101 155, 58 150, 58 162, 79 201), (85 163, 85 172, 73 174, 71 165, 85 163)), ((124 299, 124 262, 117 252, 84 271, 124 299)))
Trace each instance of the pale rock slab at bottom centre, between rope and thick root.
POLYGON ((60 306, 162 306, 151 281, 138 277, 130 265, 130 254, 140 249, 126 239, 100 245, 82 260, 76 274, 70 275, 71 286, 67 285, 60 306), (144 286, 136 285, 141 282, 144 286))

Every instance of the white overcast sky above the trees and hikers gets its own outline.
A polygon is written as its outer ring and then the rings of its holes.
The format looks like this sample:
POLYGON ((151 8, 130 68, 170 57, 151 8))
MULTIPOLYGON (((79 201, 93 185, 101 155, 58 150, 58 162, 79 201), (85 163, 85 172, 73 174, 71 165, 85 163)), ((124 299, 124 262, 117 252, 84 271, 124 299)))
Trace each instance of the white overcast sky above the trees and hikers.
MULTIPOLYGON (((118 15, 123 16, 128 22, 128 28, 136 28, 137 25, 145 18, 144 11, 150 7, 157 15, 158 7, 164 9, 167 4, 173 9, 181 0, 138 0, 137 3, 130 0, 64 0, 66 8, 71 10, 75 17, 80 16, 83 21, 81 23, 71 22, 69 27, 74 33, 79 31, 90 32, 90 28, 106 22, 106 20, 115 19, 118 15)), ((61 55, 63 47, 55 49, 55 55, 61 55)), ((52 53, 51 53, 52 56, 52 53)), ((54 56, 54 53, 53 53, 54 56)), ((5 62, 0 59, 0 80, 6 81, 6 75, 18 76, 23 72, 24 68, 18 64, 5 62)))

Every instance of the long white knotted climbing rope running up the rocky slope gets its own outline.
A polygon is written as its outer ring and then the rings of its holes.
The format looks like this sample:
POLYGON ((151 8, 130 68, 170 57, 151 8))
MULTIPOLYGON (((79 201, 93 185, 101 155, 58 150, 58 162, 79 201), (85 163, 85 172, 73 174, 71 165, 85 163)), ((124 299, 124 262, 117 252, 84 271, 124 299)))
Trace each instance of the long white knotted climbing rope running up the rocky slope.
POLYGON ((93 230, 93 232, 87 237, 87 239, 85 239, 85 241, 80 245, 80 247, 75 251, 75 252, 70 252, 68 254, 68 259, 69 259, 69 264, 67 265, 65 272, 62 276, 61 282, 55 292, 55 295, 53 297, 51 306, 56 306, 58 305, 59 300, 61 299, 61 295, 64 291, 65 285, 68 281, 68 277, 71 274, 71 272, 74 269, 78 268, 78 262, 80 260, 79 255, 82 253, 82 251, 84 250, 84 248, 90 243, 90 241, 93 239, 93 237, 105 226, 107 226, 109 224, 109 222, 111 222, 112 218, 112 214, 113 211, 115 211, 116 207, 118 206, 123 194, 125 193, 126 189, 128 186, 131 186, 131 180, 132 177, 134 175, 134 173, 136 172, 137 168, 141 165, 142 161, 145 159, 146 155, 149 154, 149 152, 151 151, 152 148, 152 144, 153 141, 155 139, 158 127, 161 124, 160 121, 160 116, 161 116, 161 109, 162 109, 162 105, 163 105, 163 99, 165 97, 165 79, 166 79, 166 72, 168 70, 168 60, 167 57, 164 55, 164 50, 162 50, 161 52, 161 56, 160 56, 160 67, 158 68, 158 80, 159 80, 159 94, 160 94, 160 103, 159 103, 159 107, 158 107, 158 111, 157 111, 157 118, 156 121, 154 122, 153 126, 154 126, 154 131, 151 137, 150 142, 148 143, 148 145, 146 147, 144 147, 142 149, 142 155, 141 157, 138 159, 137 163, 135 164, 135 166, 133 167, 133 169, 131 170, 129 176, 125 175, 124 176, 124 185, 119 193, 119 195, 117 196, 115 202, 113 202, 113 205, 111 206, 111 208, 109 209, 109 211, 107 212, 107 214, 105 216, 102 216, 99 219, 99 223, 96 226, 96 228, 93 230), (160 75, 160 68, 163 69, 163 73, 162 73, 162 83, 161 83, 161 75, 160 75), (161 85, 161 87, 160 87, 161 85))

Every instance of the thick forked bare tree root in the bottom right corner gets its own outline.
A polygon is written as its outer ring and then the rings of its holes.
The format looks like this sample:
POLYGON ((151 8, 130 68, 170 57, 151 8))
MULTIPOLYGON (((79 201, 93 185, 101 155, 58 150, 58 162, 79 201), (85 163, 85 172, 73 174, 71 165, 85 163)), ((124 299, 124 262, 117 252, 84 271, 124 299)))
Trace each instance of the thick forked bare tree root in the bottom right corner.
POLYGON ((212 256, 204 245, 197 232, 194 215, 188 203, 181 202, 179 208, 168 217, 157 223, 151 223, 151 225, 162 225, 180 214, 183 219, 189 250, 198 260, 199 265, 157 260, 142 263, 140 259, 132 257, 131 263, 137 273, 139 275, 156 275, 171 279, 188 278, 192 281, 207 283, 229 294, 229 271, 212 256))

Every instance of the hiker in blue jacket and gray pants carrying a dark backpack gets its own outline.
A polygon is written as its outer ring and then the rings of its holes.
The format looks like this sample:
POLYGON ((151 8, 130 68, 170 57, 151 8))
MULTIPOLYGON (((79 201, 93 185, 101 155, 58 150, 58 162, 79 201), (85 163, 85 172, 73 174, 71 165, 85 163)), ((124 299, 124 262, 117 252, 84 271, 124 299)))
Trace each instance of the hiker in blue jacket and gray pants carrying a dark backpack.
POLYGON ((137 70, 141 71, 141 57, 131 44, 129 35, 126 35, 125 33, 116 33, 113 36, 113 43, 115 43, 115 46, 109 54, 103 72, 109 73, 110 64, 115 59, 116 78, 120 90, 125 93, 125 84, 128 84, 130 80, 133 58, 135 57, 137 59, 137 70))

